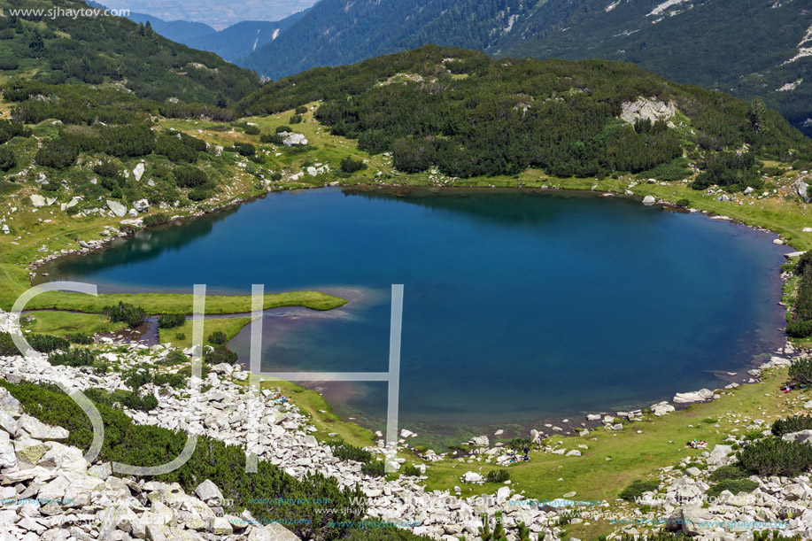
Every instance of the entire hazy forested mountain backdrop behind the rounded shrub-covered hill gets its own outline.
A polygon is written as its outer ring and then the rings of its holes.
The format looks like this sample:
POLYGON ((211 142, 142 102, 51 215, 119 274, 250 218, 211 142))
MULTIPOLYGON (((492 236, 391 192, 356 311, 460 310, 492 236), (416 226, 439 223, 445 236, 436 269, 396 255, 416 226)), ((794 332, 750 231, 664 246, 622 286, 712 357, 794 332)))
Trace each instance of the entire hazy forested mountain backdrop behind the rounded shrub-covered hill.
POLYGON ((321 0, 238 64, 278 79, 425 43, 497 57, 628 60, 762 96, 812 134, 812 6, 801 0, 321 0))

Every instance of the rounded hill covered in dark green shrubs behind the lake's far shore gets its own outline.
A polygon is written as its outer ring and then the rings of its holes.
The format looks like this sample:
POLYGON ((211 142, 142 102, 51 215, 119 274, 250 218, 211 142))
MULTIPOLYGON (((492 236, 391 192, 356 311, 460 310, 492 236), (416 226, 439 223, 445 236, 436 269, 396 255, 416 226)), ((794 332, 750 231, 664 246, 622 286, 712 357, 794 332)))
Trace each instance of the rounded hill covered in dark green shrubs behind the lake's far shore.
POLYGON ((437 166, 472 177, 533 167, 584 177, 659 167, 677 180, 689 175, 690 158, 708 170, 724 162, 731 178, 718 183, 744 189, 760 184, 756 157, 812 156, 812 142, 760 102, 605 60, 493 60, 425 46, 268 83, 238 107, 260 114, 316 100, 323 103, 315 118, 333 135, 358 139, 361 150, 391 151, 394 165, 411 173, 437 166), (619 119, 639 98, 674 104, 676 115, 619 119))

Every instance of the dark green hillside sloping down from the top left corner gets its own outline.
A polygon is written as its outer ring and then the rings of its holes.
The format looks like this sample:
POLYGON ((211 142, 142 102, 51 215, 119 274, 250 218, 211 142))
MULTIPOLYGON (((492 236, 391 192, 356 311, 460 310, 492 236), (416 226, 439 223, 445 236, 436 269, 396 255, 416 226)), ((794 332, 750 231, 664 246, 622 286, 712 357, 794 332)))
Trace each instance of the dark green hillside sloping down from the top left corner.
POLYGON ((121 85, 158 102, 230 104, 259 87, 255 73, 210 52, 173 43, 119 17, 50 17, 49 10, 89 9, 74 0, 0 0, 0 75, 49 84, 121 85), (44 10, 13 16, 13 10, 44 10))

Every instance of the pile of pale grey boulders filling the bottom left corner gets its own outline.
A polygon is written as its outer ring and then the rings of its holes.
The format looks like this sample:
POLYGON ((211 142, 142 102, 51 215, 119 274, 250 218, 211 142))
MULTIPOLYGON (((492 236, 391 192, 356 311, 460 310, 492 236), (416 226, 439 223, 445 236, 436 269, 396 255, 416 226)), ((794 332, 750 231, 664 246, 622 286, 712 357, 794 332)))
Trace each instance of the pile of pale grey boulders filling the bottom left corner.
POLYGON ((22 413, 0 388, 0 407, 16 426, 0 429, 0 538, 298 540, 281 525, 263 526, 250 513, 222 514, 222 495, 209 480, 186 494, 177 483, 112 475, 109 462, 89 464, 81 450, 59 443, 66 430, 22 413))

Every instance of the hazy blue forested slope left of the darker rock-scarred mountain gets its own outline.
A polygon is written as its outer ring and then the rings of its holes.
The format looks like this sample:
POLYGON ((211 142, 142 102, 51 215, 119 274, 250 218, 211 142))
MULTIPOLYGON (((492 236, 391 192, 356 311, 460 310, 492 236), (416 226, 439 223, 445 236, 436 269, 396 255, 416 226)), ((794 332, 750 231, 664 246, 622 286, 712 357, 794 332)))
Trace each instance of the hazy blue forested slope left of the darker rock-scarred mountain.
MULTIPOLYGON (((557 0, 555 0, 557 1, 557 0)), ((240 60, 278 79, 425 43, 488 50, 531 8, 527 0, 321 0, 274 42, 240 60)))

